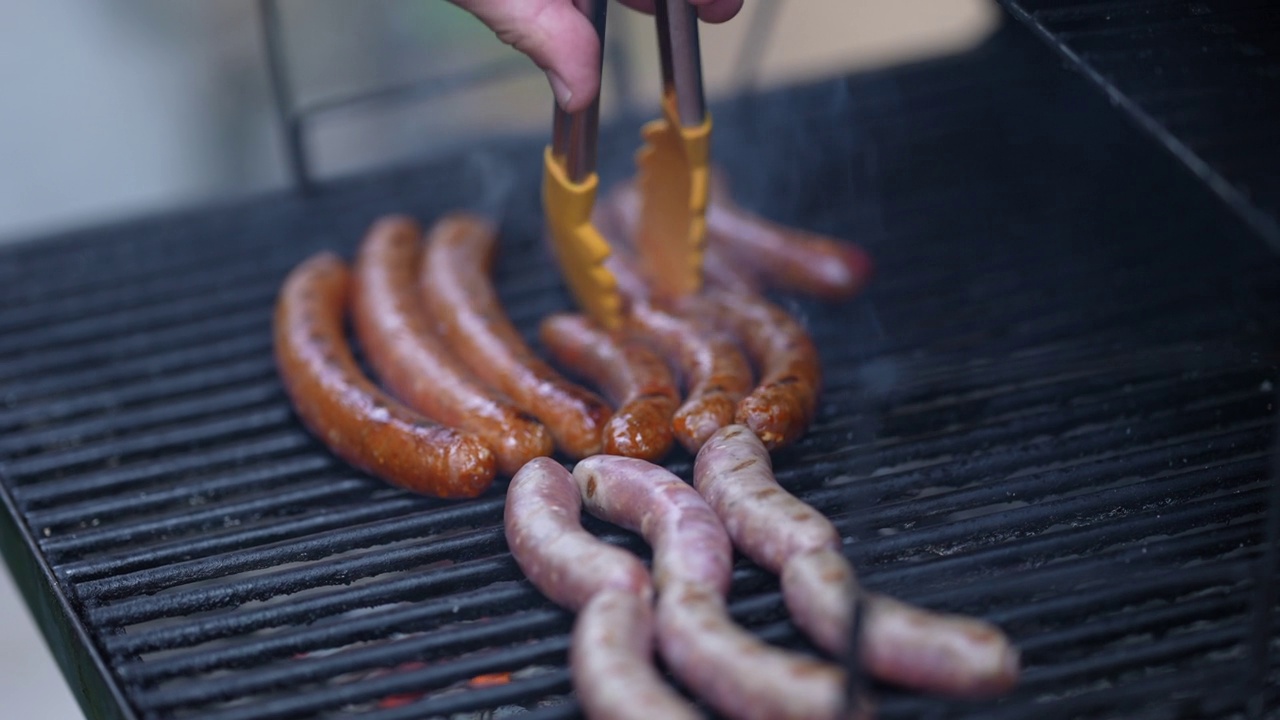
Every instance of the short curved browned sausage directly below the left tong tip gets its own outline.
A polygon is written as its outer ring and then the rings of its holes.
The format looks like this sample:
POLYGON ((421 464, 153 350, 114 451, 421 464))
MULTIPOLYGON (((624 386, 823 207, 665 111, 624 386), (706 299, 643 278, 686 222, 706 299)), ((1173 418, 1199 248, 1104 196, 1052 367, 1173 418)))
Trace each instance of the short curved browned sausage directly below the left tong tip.
POLYGON ((671 416, 680 393, 662 357, 582 315, 547 318, 540 338, 557 364, 594 383, 617 407, 604 425, 605 454, 654 461, 667 455, 675 442, 671 416))

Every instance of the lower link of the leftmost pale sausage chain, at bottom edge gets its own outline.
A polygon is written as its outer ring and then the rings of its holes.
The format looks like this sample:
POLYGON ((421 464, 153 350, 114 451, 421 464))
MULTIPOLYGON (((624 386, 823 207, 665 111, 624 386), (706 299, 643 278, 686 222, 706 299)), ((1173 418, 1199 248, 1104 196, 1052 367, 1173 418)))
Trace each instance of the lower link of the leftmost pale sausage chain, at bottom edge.
POLYGON ((653 605, 635 593, 604 589, 586 603, 573 623, 568 666, 588 717, 701 717, 654 669, 653 635, 653 605))

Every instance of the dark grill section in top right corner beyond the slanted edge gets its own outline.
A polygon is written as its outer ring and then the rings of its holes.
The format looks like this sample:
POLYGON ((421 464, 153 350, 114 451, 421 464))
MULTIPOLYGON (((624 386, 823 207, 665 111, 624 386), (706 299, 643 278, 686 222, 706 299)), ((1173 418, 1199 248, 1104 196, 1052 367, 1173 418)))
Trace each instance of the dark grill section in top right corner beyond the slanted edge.
POLYGON ((1280 6, 1001 0, 1280 251, 1280 6))

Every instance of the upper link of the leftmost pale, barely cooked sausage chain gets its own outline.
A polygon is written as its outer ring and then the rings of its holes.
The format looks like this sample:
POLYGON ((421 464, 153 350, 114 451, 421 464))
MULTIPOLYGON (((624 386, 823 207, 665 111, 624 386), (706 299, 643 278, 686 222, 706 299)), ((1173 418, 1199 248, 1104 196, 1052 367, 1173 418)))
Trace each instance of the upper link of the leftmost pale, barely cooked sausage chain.
POLYGON ((563 465, 538 457, 516 473, 507 488, 503 525, 529 582, 570 610, 581 610, 605 589, 648 603, 653 587, 644 564, 582 529, 581 516, 582 495, 563 465))

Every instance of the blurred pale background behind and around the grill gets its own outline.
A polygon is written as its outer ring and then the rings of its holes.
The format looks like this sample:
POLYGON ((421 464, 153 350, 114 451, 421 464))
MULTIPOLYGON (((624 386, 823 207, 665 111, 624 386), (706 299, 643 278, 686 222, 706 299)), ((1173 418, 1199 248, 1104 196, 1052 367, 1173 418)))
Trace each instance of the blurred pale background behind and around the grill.
MULTIPOLYGON (((703 26, 712 99, 963 51, 991 0, 746 0, 703 26)), ((0 22, 0 242, 279 190, 288 183, 255 0, 44 0, 0 22)), ((540 72, 444 0, 282 0, 294 100, 511 61, 503 79, 421 101, 315 117, 320 177, 449 152, 489 133, 549 133, 540 72)), ((617 8, 603 113, 650 113, 653 22, 617 8)), ((0 260, 3 261, 3 260, 0 260)), ((82 717, 9 575, 0 574, 6 717, 82 717)))

